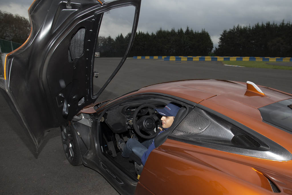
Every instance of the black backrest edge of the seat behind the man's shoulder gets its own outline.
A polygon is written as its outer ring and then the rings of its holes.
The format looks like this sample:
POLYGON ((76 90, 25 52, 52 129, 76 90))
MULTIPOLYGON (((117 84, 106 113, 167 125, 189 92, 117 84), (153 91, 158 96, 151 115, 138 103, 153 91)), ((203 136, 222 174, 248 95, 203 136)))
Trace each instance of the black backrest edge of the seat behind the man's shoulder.
POLYGON ((166 141, 168 134, 170 134, 175 126, 183 119, 184 115, 186 114, 186 110, 187 109, 185 107, 181 107, 180 110, 178 110, 178 113, 176 114, 171 127, 166 132, 161 133, 154 138, 155 148, 157 148, 166 141))

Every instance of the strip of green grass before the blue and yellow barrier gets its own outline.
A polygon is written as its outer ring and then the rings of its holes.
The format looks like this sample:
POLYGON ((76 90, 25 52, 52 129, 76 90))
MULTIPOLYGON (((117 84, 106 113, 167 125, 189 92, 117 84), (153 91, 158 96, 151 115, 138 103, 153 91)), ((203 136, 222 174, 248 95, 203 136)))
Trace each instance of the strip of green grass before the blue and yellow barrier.
MULTIPOLYGON (((223 64, 236 65, 236 66, 245 66, 250 68, 263 68, 263 69, 282 69, 282 70, 292 70, 292 66, 278 66, 270 65, 266 61, 222 61, 223 64)), ((281 62, 272 62, 272 63, 281 63, 281 62)))

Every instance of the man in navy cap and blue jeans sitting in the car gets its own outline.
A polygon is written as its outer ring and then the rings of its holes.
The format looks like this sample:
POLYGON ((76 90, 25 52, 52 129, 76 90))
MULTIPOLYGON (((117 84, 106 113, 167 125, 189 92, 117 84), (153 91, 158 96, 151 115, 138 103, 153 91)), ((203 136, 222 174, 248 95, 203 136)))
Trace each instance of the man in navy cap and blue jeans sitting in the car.
MULTIPOLYGON (((159 134, 166 131, 172 125, 179 109, 180 107, 171 103, 167 104, 163 109, 155 109, 159 114, 162 115, 162 128, 159 127, 159 134)), ((130 138, 125 144, 124 140, 120 138, 117 140, 117 146, 122 152, 122 157, 129 158, 130 155, 134 153, 141 159, 142 164, 145 165, 150 152, 155 148, 154 139, 152 138, 140 143, 137 139, 130 138)))

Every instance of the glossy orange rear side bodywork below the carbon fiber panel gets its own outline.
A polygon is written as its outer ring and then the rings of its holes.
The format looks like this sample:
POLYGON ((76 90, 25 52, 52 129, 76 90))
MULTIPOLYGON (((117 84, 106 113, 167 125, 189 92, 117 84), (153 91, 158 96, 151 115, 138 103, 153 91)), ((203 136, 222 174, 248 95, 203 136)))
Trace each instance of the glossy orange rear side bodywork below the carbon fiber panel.
POLYGON ((147 194, 141 186, 153 194, 274 194, 267 178, 289 194, 291 163, 234 155, 167 139, 150 154, 135 194, 147 194))

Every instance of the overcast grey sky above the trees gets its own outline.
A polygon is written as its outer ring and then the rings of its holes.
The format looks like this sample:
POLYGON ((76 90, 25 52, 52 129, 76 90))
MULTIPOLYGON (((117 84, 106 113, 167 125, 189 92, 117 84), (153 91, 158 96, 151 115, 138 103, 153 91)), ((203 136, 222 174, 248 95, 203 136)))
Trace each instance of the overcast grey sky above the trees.
MULTIPOLYGON (((0 0, 0 10, 28 18, 27 10, 32 2, 0 0)), ((215 48, 224 29, 238 24, 280 23, 283 19, 292 22, 291 9, 292 0, 142 0, 138 30, 155 33, 159 28, 185 30, 187 26, 196 31, 205 29, 215 48)))

